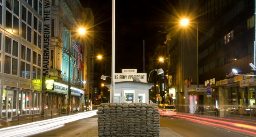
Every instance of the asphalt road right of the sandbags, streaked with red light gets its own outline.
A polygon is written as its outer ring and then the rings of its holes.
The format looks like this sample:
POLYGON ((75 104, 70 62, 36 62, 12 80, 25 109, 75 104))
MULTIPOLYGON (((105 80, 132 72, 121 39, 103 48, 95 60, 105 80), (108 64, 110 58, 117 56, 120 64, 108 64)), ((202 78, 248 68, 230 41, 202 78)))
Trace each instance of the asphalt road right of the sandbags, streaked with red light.
POLYGON ((182 137, 255 137, 253 134, 208 124, 207 121, 184 119, 181 116, 160 116, 160 127, 167 127, 182 137))

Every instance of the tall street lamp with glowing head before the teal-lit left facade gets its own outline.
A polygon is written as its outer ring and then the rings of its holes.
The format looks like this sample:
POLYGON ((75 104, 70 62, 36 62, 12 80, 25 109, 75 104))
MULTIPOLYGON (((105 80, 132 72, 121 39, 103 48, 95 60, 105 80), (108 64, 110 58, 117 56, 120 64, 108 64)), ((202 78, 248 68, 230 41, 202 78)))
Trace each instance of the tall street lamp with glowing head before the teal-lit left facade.
POLYGON ((67 115, 69 115, 69 111, 70 111, 70 94, 71 94, 71 85, 70 85, 70 56, 71 56, 71 32, 79 32, 80 34, 84 34, 85 33, 85 29, 84 28, 79 28, 79 30, 70 30, 69 31, 69 89, 68 92, 69 94, 67 95, 67 107, 69 109, 67 109, 67 115))

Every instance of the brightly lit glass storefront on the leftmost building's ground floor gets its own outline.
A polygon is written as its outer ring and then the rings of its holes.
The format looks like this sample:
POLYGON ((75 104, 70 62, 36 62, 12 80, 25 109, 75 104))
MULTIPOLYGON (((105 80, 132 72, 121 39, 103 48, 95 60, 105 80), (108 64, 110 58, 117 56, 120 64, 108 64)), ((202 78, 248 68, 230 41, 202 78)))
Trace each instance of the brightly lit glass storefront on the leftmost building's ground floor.
POLYGON ((1 118, 6 121, 41 114, 41 92, 31 89, 4 86, 1 118))

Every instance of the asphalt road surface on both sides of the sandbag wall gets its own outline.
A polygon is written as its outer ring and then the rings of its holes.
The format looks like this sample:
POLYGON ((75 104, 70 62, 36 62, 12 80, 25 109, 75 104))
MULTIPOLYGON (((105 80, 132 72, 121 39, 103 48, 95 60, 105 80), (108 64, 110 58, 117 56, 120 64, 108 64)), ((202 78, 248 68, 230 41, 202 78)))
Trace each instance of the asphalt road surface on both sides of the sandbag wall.
MULTIPOLYGON (((97 137, 97 118, 76 120, 60 128, 32 134, 30 137, 97 137)), ((160 137, 254 137, 255 134, 223 128, 220 125, 196 119, 160 116, 160 137)))

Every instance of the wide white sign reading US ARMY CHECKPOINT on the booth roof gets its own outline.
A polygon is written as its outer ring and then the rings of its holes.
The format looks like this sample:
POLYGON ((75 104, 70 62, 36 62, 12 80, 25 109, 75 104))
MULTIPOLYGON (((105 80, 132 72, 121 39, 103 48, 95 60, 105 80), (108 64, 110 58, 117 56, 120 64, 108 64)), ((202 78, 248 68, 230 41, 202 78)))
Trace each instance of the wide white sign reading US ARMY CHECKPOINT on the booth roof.
POLYGON ((132 81, 134 76, 137 76, 141 82, 147 82, 146 73, 115 73, 115 82, 132 81))

